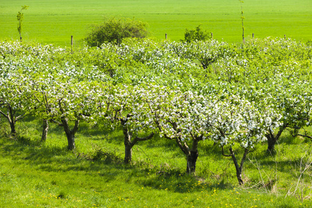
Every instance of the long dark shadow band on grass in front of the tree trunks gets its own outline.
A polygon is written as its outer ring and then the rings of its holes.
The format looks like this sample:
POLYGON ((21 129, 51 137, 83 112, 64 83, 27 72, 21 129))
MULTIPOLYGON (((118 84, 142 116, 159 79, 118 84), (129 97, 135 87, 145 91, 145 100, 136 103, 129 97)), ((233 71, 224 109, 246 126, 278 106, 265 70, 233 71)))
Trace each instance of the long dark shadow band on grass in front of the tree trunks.
POLYGON ((40 141, 31 141, 24 137, 18 137, 17 140, 2 138, 0 146, 2 157, 12 158, 17 164, 31 165, 32 168, 49 174, 90 175, 101 177, 103 182, 122 180, 135 184, 137 181, 145 187, 178 193, 203 190, 209 192, 216 187, 227 189, 230 186, 223 182, 208 184, 175 168, 167 168, 164 173, 159 173, 157 168, 150 169, 150 164, 147 163, 125 165, 120 160, 117 162, 115 158, 109 157, 109 154, 104 154, 96 160, 77 158, 77 155, 66 147, 45 146, 40 141))

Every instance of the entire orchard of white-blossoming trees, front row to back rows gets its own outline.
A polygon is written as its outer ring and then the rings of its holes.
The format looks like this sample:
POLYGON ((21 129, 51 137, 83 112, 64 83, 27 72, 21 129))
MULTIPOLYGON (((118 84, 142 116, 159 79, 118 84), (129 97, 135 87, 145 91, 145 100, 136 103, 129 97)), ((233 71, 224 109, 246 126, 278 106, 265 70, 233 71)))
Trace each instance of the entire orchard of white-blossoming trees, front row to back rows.
MULTIPOLYGON (((138 45, 109 44, 101 50, 66 53, 53 46, 2 44, 0 114, 10 123, 12 135, 17 121, 35 114, 44 123, 42 140, 49 122, 57 123, 73 149, 80 121, 104 123, 123 131, 125 163, 131 162, 138 141, 159 135, 182 150, 187 173, 196 171, 198 143, 210 139, 223 155, 232 157, 240 184, 243 162, 256 144, 268 140, 272 151, 284 130, 309 137, 300 132, 311 125, 309 72, 293 66, 295 70, 286 71, 282 61, 275 69, 275 60, 269 58, 261 65, 257 56, 263 50, 268 53, 265 47, 250 44, 244 53, 235 53, 242 49, 218 42, 138 45), (200 47, 206 50, 202 54, 200 47), (200 55, 211 61, 191 61, 207 60, 200 55), (218 66, 218 71, 212 70, 218 66), (267 67, 279 73, 259 78, 270 71, 267 67), (243 148, 241 162, 236 159, 238 148, 243 148)), ((293 59, 299 67, 306 63, 293 59)))

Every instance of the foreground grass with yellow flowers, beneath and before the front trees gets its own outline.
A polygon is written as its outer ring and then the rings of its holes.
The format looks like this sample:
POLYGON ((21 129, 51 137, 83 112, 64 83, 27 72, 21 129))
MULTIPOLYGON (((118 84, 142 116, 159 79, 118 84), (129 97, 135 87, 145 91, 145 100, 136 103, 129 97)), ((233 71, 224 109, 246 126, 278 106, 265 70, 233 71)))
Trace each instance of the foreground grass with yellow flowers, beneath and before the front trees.
POLYGON ((0 207, 312 205, 311 168, 297 183, 300 161, 311 157, 306 139, 284 135, 275 155, 266 155, 266 144, 259 145, 245 162, 245 184, 239 186, 232 161, 209 141, 200 144, 193 176, 185 174, 186 160, 177 146, 164 139, 141 142, 133 149, 132 164, 124 165, 119 131, 83 123, 77 150, 71 152, 56 125, 50 124, 46 143, 40 142, 40 122, 33 117, 18 123, 17 140, 8 136, 3 119, 0 126, 0 207), (299 189, 285 198, 297 184, 299 189))

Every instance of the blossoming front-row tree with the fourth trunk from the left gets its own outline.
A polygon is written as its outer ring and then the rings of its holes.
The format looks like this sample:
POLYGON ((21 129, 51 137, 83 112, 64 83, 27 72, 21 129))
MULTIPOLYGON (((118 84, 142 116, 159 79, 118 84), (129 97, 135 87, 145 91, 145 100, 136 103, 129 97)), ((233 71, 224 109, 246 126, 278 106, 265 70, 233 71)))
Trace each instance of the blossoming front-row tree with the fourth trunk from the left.
POLYGON ((125 164, 132 160, 132 147, 138 141, 146 141, 154 136, 153 120, 146 116, 147 105, 142 101, 140 87, 115 86, 110 92, 103 94, 104 102, 100 107, 100 115, 112 122, 114 128, 121 125, 123 144, 125 145, 125 164), (147 133, 146 137, 139 137, 147 133))

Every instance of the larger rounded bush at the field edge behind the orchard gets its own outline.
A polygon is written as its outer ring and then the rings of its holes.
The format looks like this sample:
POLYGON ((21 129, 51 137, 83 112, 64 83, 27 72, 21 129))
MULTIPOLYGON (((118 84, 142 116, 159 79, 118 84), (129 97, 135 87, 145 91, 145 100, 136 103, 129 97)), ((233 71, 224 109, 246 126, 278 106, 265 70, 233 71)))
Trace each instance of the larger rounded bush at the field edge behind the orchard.
POLYGON ((120 44, 125 37, 143 38, 148 35, 148 24, 125 18, 105 18, 102 24, 93 25, 85 38, 89 46, 100 46, 105 42, 120 44))

